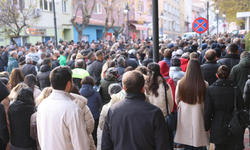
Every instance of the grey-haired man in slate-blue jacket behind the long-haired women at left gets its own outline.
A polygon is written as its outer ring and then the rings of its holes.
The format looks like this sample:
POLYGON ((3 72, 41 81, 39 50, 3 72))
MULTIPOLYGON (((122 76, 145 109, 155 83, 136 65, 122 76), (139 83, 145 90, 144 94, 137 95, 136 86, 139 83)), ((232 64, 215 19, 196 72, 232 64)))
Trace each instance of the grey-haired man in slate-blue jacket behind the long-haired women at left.
POLYGON ((28 74, 33 74, 34 76, 36 76, 37 72, 35 65, 33 65, 32 57, 26 57, 25 61, 26 64, 20 68, 23 72, 23 77, 26 77, 28 74))

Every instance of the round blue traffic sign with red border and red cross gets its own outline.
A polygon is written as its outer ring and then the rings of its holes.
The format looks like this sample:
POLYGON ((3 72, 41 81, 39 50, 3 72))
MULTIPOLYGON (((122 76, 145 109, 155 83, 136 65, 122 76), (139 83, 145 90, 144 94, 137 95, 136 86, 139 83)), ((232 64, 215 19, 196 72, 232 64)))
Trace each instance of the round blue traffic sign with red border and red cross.
POLYGON ((208 21, 205 18, 199 17, 193 22, 193 30, 196 33, 202 34, 208 29, 208 21))

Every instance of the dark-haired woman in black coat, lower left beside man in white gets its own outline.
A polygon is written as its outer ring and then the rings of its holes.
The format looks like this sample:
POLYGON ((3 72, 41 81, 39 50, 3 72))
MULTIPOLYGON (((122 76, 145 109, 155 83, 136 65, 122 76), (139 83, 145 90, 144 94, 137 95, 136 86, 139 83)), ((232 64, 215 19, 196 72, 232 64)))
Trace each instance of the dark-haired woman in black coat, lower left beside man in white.
POLYGON ((10 149, 36 150, 36 141, 30 136, 30 117, 35 113, 33 92, 30 88, 23 88, 17 100, 10 105, 10 149))

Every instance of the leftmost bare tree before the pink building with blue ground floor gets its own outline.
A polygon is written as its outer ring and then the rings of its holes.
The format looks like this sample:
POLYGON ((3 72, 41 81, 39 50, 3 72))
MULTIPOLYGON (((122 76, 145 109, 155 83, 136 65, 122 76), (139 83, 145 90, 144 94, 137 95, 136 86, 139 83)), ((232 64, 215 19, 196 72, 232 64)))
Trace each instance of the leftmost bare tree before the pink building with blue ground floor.
POLYGON ((96 0, 74 0, 72 5, 74 13, 70 22, 76 28, 78 41, 81 41, 83 30, 88 26, 89 20, 96 6, 96 0), (81 12, 81 16, 77 16, 78 11, 81 12), (81 25, 76 22, 77 17, 81 18, 81 25))

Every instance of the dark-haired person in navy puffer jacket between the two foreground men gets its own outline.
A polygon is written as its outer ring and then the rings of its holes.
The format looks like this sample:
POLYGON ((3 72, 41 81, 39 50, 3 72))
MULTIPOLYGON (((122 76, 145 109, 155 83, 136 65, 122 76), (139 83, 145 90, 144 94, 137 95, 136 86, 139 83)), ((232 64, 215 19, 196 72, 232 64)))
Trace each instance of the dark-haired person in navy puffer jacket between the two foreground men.
POLYGON ((97 127, 99 123, 100 111, 102 106, 102 98, 99 92, 96 92, 93 87, 95 85, 94 79, 91 76, 86 76, 81 81, 82 87, 80 89, 80 94, 88 99, 88 107, 95 119, 95 128, 92 132, 95 145, 97 145, 97 127))

